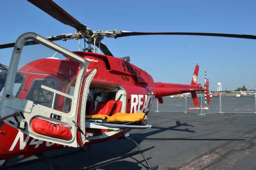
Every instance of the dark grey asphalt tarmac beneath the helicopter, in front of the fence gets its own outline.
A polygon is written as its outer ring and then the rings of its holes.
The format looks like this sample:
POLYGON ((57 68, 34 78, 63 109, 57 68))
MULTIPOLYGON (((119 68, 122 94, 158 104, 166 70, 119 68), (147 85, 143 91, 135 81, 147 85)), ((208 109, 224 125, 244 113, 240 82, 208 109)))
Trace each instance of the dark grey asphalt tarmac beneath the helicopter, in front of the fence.
MULTIPOLYGON (((155 146, 144 154, 152 166, 158 165, 161 170, 256 169, 256 115, 253 113, 217 113, 200 116, 191 113, 150 112, 148 124, 152 125, 152 128, 132 130, 130 137, 135 139, 141 148, 155 146)), ((75 149, 69 149, 72 150, 75 149)), ((84 149, 57 156, 51 161, 57 170, 84 169, 136 150, 132 142, 116 139, 93 144, 91 151, 84 149)), ((47 155, 66 151, 59 150, 47 155)), ((22 158, 17 160, 21 161, 22 158)), ((48 168, 46 162, 37 161, 7 169, 48 168)), ((98 168, 120 169, 147 168, 140 154, 98 168)))

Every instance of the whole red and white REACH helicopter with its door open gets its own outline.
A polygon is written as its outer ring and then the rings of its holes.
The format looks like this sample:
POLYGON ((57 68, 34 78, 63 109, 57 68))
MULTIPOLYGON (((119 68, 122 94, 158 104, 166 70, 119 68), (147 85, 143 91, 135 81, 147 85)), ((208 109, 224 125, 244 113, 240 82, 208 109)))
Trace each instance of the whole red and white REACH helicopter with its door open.
MULTIPOLYGON (((134 128, 150 128, 146 119, 154 98, 163 103, 162 97, 191 93, 198 106, 196 92, 205 91, 210 103, 209 80, 204 86, 197 83, 198 65, 190 85, 156 83, 146 71, 131 64, 129 57, 114 57, 101 42, 104 37, 194 35, 256 39, 236 34, 92 31, 52 0, 28 1, 77 32, 49 38, 28 32, 16 43, 0 45, 0 49, 14 47, 10 66, 1 65, 0 73, 0 160, 65 146, 90 146, 127 137, 134 128), (71 52, 53 43, 74 38, 84 39, 84 51, 71 52), (66 59, 20 62, 24 46, 34 44, 44 45, 66 59), (93 53, 96 47, 104 55, 93 53)), ((139 148, 133 154, 147 149, 150 148, 139 148)), ((151 169, 157 168, 147 164, 151 169)))

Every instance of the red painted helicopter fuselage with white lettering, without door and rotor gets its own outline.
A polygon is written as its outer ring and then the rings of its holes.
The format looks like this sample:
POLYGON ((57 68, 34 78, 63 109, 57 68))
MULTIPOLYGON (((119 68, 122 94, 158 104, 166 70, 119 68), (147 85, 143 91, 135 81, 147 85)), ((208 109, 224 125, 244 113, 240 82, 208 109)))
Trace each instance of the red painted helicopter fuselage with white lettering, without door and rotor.
MULTIPOLYGON (((144 112, 147 114, 154 97, 158 98, 159 101, 162 101, 161 97, 164 96, 204 90, 200 84, 180 85, 154 83, 152 77, 148 73, 135 65, 116 57, 89 52, 74 53, 91 61, 86 73, 89 73, 90 70, 97 67, 97 73, 92 80, 93 83, 118 85, 125 89, 126 113, 144 112)), ((20 69, 20 73, 23 74, 26 79, 24 80, 22 90, 19 92, 17 97, 20 99, 26 98, 28 90, 30 89, 34 79, 54 79, 54 75, 57 74, 68 75, 72 73, 73 75, 76 75, 78 67, 79 65, 73 61, 70 61, 69 59, 66 61, 58 59, 38 59, 32 61, 20 69), (47 73, 48 75, 33 74, 33 72, 40 73, 40 70, 43 70, 44 73, 47 73)), ((30 136, 27 136, 26 134, 23 134, 19 130, 10 127, 6 123, 1 123, 1 125, 0 160, 12 158, 17 155, 32 156, 37 152, 44 152, 47 150, 55 150, 66 147, 42 140, 36 140, 30 136)), ((90 142, 86 144, 112 140, 122 136, 128 131, 130 130, 123 130, 104 139, 90 140, 90 142)), ((78 135, 77 140, 79 145, 82 146, 79 136, 80 135, 78 135)))

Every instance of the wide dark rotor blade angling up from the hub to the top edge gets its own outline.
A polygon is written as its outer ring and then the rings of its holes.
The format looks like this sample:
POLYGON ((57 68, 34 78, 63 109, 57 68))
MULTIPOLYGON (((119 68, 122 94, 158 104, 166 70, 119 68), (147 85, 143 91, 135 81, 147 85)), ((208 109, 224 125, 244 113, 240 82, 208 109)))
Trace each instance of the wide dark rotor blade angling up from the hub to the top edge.
POLYGON ((76 30, 86 30, 86 25, 80 23, 52 0, 28 0, 28 2, 34 4, 63 24, 72 26, 76 28, 76 30))

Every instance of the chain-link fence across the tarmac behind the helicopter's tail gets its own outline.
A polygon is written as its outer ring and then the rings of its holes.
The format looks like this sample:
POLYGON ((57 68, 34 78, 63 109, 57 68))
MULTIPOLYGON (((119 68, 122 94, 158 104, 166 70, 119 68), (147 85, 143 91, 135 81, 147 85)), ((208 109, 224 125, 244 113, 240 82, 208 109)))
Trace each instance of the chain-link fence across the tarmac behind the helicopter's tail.
POLYGON ((204 95, 198 94, 199 105, 194 106, 190 96, 169 96, 163 97, 164 103, 159 104, 154 99, 150 111, 155 112, 184 112, 194 114, 212 114, 212 113, 256 113, 256 94, 254 95, 236 95, 220 94, 210 98, 210 105, 204 104, 204 95))

